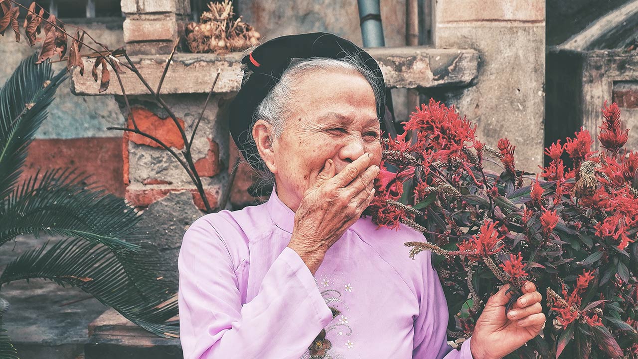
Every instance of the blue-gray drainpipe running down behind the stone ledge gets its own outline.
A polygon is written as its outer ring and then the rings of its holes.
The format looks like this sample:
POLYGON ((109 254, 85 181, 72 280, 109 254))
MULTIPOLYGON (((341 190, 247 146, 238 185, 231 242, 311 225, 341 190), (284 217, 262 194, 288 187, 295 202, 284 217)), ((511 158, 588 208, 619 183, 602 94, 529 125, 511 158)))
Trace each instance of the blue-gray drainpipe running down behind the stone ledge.
MULTIPOLYGON (((361 38, 363 47, 384 47, 383 26, 381 24, 380 0, 357 0, 359 4, 359 21, 361 24, 361 38)), ((385 116, 383 127, 390 137, 397 135, 394 121, 394 106, 392 105, 392 93, 385 89, 385 116)))

